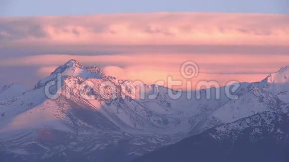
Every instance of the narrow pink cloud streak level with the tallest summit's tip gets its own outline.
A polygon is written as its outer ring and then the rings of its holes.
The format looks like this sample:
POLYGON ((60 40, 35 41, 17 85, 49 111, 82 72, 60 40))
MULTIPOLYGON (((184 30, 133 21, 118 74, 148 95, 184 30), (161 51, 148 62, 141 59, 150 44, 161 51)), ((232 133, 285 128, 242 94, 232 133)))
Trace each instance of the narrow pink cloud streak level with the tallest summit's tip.
MULTIPOLYGON (((228 69, 228 67, 235 70, 258 68, 276 68, 289 64, 289 55, 264 55, 262 54, 194 54, 194 53, 175 53, 175 54, 135 54, 135 55, 97 55, 97 56, 83 56, 83 55, 35 55, 18 58, 7 58, 0 60, 0 66, 59 66, 70 59, 78 60, 84 64, 90 65, 123 65, 123 66, 137 66, 144 65, 146 69, 155 67, 165 67, 163 69, 170 70, 179 67, 187 60, 193 60, 200 66, 211 68, 211 72, 216 72, 217 69, 228 69), (213 67, 216 66, 216 67, 213 67)), ((230 69, 228 69, 230 70, 230 69)), ((204 71, 204 73, 209 73, 204 71)))

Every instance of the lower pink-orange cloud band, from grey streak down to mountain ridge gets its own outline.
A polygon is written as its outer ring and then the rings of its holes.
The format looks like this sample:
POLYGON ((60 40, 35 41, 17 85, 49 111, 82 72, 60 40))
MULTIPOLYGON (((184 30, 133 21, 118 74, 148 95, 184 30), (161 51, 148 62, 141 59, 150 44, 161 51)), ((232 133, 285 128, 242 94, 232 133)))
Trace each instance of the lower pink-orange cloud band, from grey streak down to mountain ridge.
MULTIPOLYGON (((228 81, 261 81, 272 72, 289 64, 288 55, 196 55, 196 54, 139 54, 139 55, 40 55, 3 59, 1 66, 36 66, 37 75, 45 77, 57 66, 70 59, 86 65, 101 65, 103 71, 118 79, 141 80, 147 84, 156 83, 172 76, 174 80, 186 81, 180 74, 183 62, 193 60, 199 65, 199 75, 193 82, 216 80, 220 85, 228 81), (281 66, 282 65, 282 66, 281 66)), ((166 85, 166 84, 164 84, 166 85)), ((194 87, 194 85, 193 85, 194 87)))

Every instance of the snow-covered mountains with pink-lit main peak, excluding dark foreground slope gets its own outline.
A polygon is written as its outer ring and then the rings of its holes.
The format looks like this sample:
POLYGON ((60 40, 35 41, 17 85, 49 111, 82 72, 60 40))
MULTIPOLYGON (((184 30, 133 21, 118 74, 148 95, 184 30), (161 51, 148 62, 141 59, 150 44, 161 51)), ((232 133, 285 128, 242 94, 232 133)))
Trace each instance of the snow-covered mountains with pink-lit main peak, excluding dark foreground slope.
POLYGON ((118 80, 70 60, 34 88, 0 101, 0 155, 17 162, 76 157, 128 162, 214 126, 286 105, 286 98, 264 86, 264 81, 241 83, 237 100, 226 96, 225 87, 210 88, 212 96, 220 90, 220 99, 207 99, 206 89, 192 92, 191 99, 185 93, 171 99, 166 87, 118 80))

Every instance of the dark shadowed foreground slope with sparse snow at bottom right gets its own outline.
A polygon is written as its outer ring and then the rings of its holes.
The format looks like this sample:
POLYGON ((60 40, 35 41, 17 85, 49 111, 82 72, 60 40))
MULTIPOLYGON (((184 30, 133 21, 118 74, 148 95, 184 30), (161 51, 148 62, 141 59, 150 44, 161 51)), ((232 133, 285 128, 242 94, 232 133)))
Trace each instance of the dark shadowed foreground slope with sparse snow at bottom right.
POLYGON ((288 162, 289 107, 266 111, 148 153, 133 162, 288 162))

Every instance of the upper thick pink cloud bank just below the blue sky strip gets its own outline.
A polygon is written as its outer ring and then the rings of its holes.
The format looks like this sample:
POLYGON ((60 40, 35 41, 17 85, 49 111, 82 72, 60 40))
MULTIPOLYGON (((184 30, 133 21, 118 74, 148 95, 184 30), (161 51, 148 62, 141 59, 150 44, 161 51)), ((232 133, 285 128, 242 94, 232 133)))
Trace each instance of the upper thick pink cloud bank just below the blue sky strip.
MULTIPOLYGON (((287 45, 289 15, 136 13, 0 18, 2 43, 287 45)), ((1 43, 1 44, 2 44, 1 43)))

